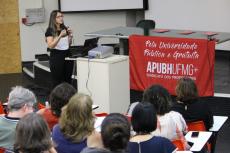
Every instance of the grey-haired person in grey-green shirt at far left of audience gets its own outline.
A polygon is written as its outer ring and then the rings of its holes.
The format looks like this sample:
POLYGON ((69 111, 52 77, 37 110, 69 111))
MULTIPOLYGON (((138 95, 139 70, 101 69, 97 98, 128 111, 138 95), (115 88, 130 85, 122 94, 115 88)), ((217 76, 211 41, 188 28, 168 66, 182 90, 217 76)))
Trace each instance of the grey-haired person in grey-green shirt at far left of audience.
POLYGON ((13 149, 17 122, 34 111, 35 103, 36 97, 32 91, 21 86, 12 89, 8 97, 8 114, 0 116, 0 147, 13 149))

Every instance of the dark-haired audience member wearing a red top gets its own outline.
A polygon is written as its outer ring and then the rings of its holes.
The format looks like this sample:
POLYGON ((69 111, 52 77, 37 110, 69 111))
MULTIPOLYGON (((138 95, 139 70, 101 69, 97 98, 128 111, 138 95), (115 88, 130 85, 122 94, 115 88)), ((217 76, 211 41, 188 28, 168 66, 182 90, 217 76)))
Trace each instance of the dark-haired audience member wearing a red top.
POLYGON ((58 123, 58 118, 61 115, 62 107, 68 103, 69 99, 76 92, 76 89, 72 85, 68 83, 61 83, 60 85, 56 86, 50 93, 50 108, 43 108, 37 112, 44 117, 51 130, 53 126, 58 123))

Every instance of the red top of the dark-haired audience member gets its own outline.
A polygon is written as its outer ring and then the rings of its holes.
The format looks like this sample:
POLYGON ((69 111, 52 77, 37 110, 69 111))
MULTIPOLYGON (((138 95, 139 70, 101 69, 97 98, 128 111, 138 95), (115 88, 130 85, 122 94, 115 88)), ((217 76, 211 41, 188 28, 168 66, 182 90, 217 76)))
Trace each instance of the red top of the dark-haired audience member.
POLYGON ((53 126, 58 123, 58 117, 54 116, 50 109, 48 108, 43 108, 43 109, 45 110, 41 115, 44 117, 44 119, 48 123, 50 130, 52 130, 53 126))

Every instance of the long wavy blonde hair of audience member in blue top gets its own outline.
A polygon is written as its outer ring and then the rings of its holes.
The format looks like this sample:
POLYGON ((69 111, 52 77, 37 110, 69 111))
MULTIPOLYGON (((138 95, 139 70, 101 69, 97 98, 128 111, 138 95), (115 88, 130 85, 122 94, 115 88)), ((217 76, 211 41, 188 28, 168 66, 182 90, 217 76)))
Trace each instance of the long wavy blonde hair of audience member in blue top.
POLYGON ((94 131, 92 105, 90 96, 77 93, 63 107, 60 128, 72 142, 80 142, 94 131))

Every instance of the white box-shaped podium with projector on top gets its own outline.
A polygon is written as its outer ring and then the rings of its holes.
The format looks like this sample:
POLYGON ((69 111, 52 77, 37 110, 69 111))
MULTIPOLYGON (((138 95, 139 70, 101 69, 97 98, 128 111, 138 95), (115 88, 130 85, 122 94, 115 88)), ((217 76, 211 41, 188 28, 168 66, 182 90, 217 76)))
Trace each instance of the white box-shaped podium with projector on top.
POLYGON ((130 104, 129 58, 113 55, 104 59, 77 58, 78 92, 99 105, 95 112, 125 113, 130 104))

